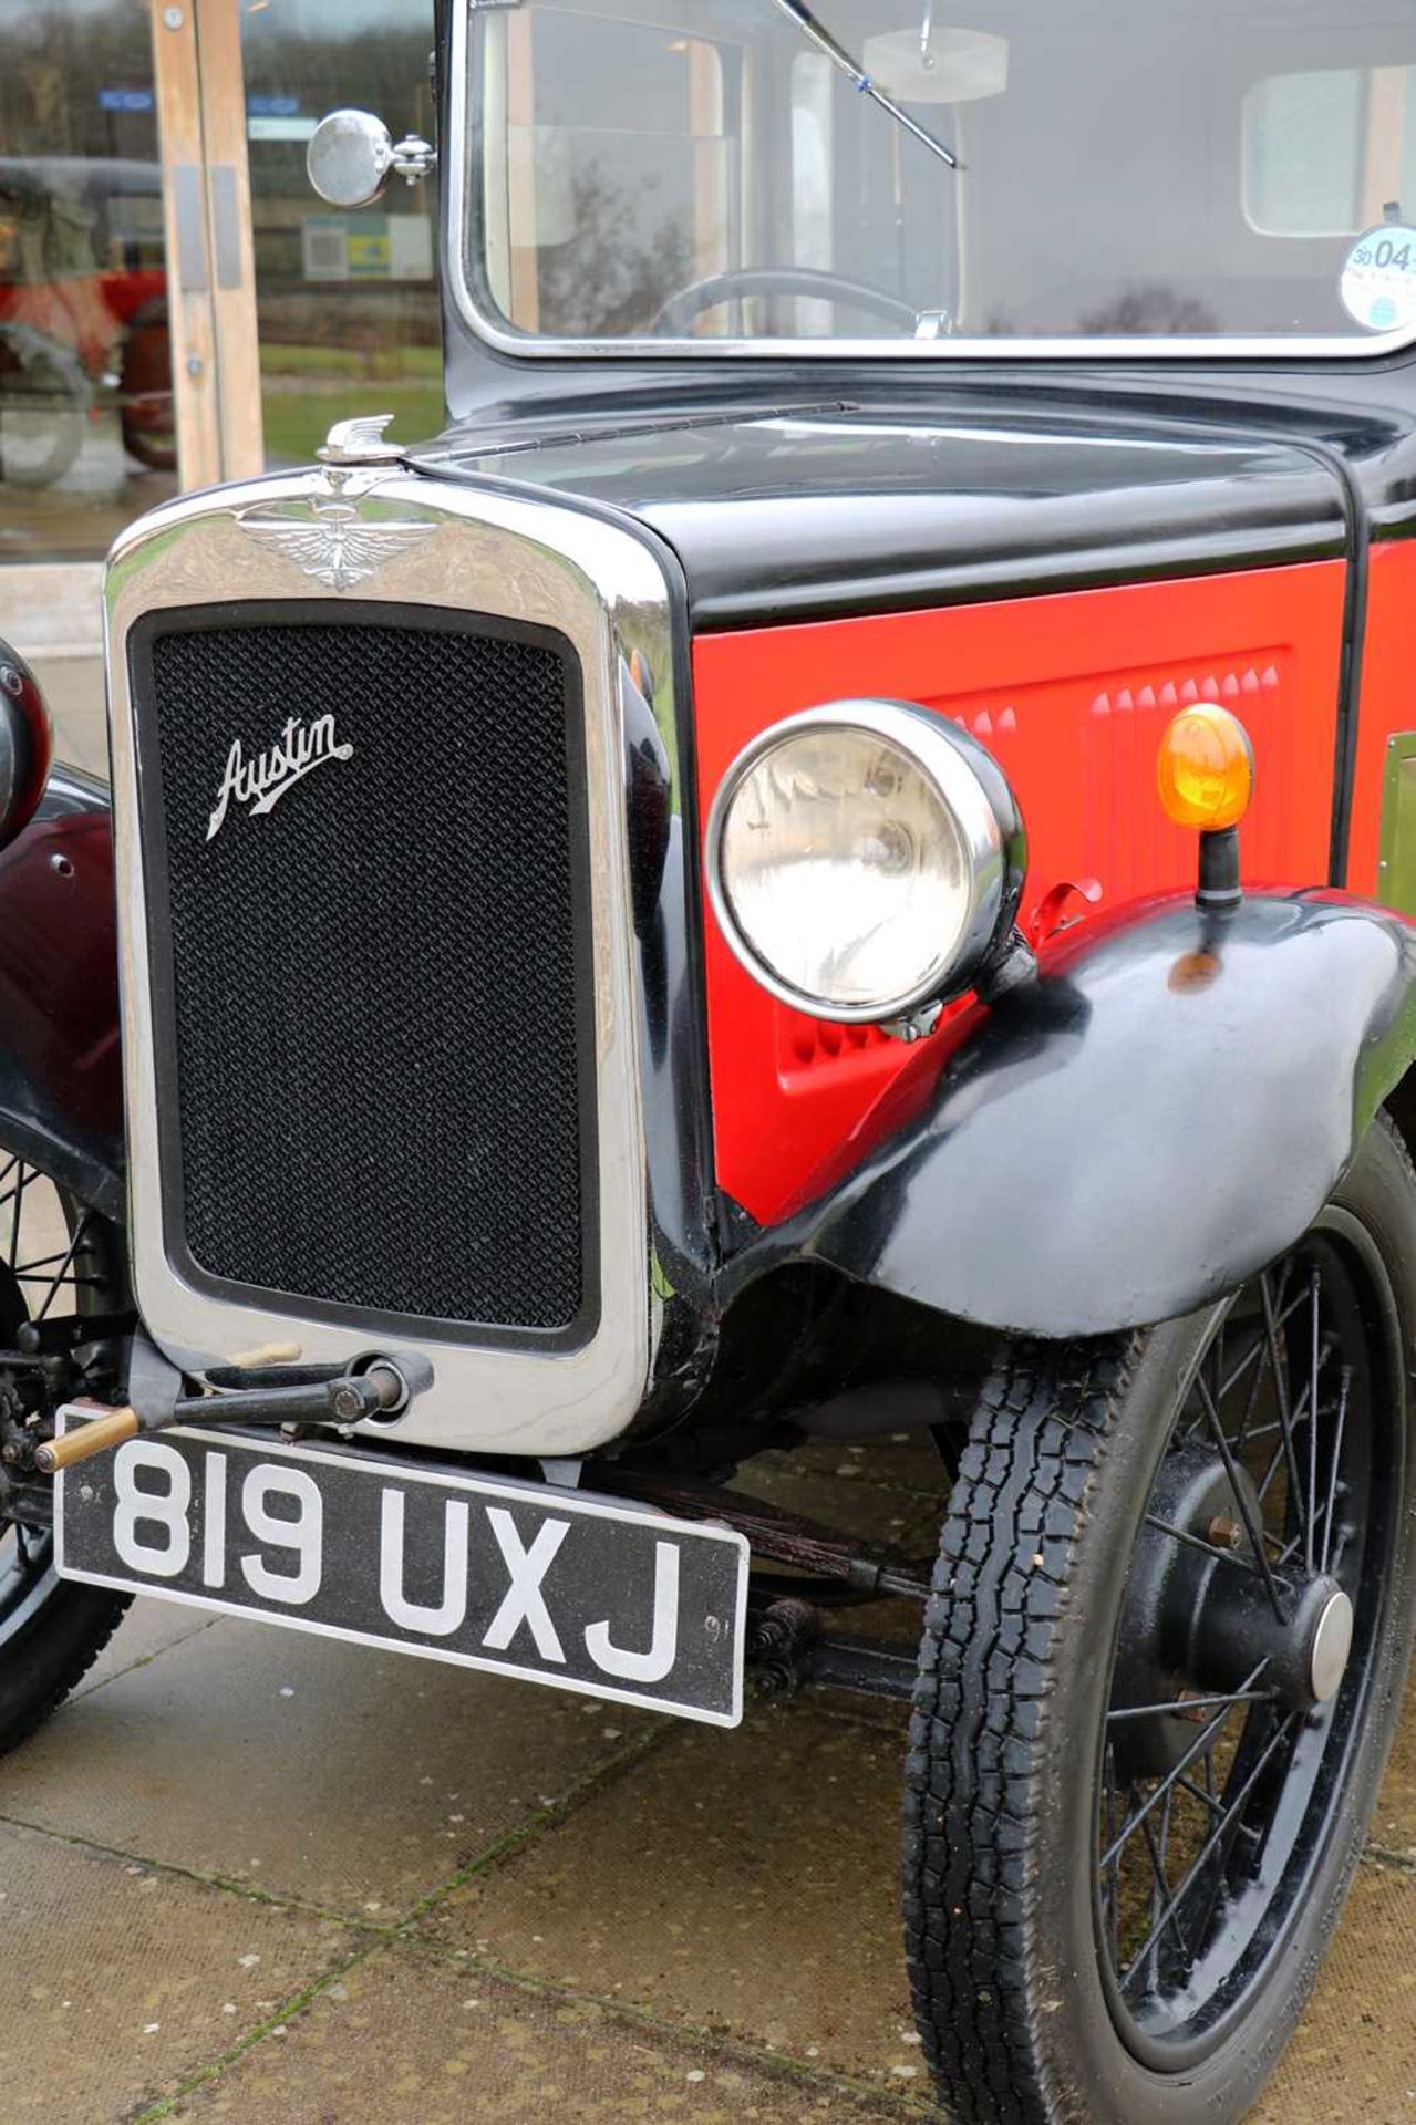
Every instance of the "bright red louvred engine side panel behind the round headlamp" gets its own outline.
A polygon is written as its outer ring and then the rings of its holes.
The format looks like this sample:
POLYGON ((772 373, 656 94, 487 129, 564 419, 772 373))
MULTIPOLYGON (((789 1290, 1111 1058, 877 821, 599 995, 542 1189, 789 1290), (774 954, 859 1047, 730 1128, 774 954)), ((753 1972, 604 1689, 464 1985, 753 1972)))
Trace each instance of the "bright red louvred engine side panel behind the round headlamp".
MULTIPOLYGON (((1244 718, 1259 761, 1246 878, 1322 884, 1342 599, 1344 565, 1314 561, 702 635, 704 816, 740 748, 780 716, 850 695, 921 701, 980 737, 1018 793, 1023 920, 1052 886, 1086 878, 1116 905, 1195 876, 1195 837, 1163 816, 1154 759, 1176 708, 1218 699, 1244 718)), ((906 1058, 923 1058, 872 1026, 821 1024, 776 1003, 712 914, 706 922, 717 1175, 772 1224, 842 1169, 844 1139, 906 1058)))

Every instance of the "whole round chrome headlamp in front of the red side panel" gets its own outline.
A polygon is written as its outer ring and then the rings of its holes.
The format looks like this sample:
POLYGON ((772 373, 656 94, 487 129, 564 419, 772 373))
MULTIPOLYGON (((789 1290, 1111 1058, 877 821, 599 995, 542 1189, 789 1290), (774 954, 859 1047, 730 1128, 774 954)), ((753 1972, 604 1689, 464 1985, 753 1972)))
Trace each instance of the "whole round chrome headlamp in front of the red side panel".
POLYGON ((1023 861, 997 763, 908 701, 831 701, 772 725, 708 816, 729 946, 782 1003, 842 1022, 967 988, 1012 929, 1023 861))

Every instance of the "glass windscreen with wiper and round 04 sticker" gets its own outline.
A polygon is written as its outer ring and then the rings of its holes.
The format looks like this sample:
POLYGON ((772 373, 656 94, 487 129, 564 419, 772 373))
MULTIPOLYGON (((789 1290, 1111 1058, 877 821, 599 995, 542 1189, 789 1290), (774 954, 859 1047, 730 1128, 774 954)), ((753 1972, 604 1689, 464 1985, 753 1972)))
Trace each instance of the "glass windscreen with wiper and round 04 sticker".
POLYGON ((1416 0, 478 0, 463 23, 461 264, 500 336, 1416 332, 1416 0))

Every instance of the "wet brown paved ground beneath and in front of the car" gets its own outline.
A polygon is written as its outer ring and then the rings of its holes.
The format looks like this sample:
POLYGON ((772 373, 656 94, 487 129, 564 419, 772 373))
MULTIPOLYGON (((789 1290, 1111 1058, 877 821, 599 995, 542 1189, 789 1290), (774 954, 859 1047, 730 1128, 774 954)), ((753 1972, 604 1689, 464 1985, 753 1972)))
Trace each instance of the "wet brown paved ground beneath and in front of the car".
MULTIPOLYGON (((912 1447, 763 1470, 910 1543, 912 1447), (844 1473, 842 1473, 844 1470, 844 1473)), ((138 1604, 0 1764, 4 2125, 927 2114, 899 1719, 736 1734, 138 1604)), ((1416 2125, 1416 1698, 1254 2125, 1416 2125)))

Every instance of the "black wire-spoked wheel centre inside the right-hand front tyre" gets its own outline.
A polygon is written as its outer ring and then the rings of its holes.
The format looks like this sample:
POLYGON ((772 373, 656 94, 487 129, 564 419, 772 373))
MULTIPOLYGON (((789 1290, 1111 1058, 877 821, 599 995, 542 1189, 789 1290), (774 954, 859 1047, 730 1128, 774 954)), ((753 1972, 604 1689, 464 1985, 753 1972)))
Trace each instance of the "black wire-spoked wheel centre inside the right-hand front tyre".
POLYGON ((1303 1896, 1390 1575, 1380 1262, 1327 1228, 1218 1311, 1146 1500, 1097 1779, 1112 2012, 1150 2066, 1244 2012, 1303 1896))

